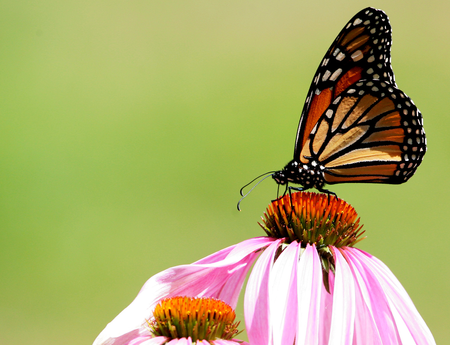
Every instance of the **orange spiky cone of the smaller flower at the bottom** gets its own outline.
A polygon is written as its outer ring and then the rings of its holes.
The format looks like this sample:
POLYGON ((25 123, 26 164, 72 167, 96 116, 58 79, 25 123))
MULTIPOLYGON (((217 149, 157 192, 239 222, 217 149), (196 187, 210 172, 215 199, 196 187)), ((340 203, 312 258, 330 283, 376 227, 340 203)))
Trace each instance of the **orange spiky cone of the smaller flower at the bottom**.
POLYGON ((230 340, 238 334, 233 308, 220 299, 172 297, 163 299, 148 322, 154 336, 171 339, 230 340))

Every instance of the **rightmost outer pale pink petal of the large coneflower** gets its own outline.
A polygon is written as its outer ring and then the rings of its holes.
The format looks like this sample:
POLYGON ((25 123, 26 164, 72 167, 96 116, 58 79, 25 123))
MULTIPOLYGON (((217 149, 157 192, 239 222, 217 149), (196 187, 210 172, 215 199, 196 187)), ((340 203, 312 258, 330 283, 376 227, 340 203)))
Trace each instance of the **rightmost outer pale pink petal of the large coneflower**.
POLYGON ((355 249, 353 253, 374 272, 374 275, 383 287, 395 319, 401 342, 408 344, 413 341, 417 345, 436 344, 426 323, 410 299, 410 296, 391 270, 383 262, 369 253, 358 249, 355 249))

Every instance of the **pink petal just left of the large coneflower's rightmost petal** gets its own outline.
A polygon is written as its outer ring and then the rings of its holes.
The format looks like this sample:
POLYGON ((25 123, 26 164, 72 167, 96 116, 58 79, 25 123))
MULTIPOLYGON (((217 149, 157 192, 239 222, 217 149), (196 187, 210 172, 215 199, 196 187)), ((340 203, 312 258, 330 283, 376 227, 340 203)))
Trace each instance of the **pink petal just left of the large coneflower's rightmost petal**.
POLYGON ((351 262, 356 285, 359 287, 368 313, 373 317, 382 344, 401 344, 389 302, 374 271, 360 260, 359 250, 345 248, 345 253, 351 262))

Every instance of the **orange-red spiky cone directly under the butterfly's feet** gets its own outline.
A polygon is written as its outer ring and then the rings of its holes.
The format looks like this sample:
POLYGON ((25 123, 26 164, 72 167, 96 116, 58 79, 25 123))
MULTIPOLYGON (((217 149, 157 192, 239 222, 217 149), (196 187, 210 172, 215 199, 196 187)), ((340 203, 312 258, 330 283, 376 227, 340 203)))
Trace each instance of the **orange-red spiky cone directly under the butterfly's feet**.
POLYGON ((361 239, 360 218, 355 209, 342 199, 327 194, 309 192, 292 193, 273 201, 266 212, 263 224, 258 223, 267 235, 299 241, 304 246, 317 248, 353 246, 361 239))

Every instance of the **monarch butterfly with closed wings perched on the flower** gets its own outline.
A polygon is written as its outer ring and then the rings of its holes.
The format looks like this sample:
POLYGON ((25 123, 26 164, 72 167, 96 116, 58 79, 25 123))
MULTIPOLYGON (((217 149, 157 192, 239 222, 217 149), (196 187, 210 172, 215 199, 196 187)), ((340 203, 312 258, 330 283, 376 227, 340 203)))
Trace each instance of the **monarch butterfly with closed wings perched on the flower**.
POLYGON ((308 91, 294 158, 271 172, 284 194, 314 187, 335 195, 324 185, 401 184, 414 174, 426 151, 422 115, 397 88, 391 44, 389 18, 371 7, 336 37, 308 91))

